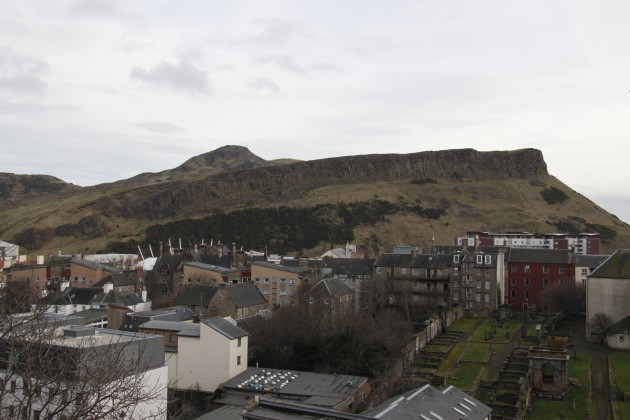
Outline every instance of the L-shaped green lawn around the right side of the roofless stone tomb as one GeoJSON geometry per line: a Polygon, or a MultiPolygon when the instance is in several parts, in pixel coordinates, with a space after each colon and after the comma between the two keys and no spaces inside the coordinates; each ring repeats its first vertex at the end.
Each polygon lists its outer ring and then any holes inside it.
{"type": "Polygon", "coordinates": [[[569,377],[576,378],[578,385],[569,385],[567,398],[564,401],[533,400],[531,419],[556,420],[559,416],[566,419],[588,418],[590,402],[588,355],[578,353],[578,358],[569,360],[569,377]]]}

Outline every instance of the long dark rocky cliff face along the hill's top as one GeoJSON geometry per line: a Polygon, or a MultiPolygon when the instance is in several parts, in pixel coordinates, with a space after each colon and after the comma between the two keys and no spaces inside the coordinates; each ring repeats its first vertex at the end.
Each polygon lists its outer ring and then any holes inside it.
{"type": "Polygon", "coordinates": [[[452,178],[476,181],[532,178],[547,174],[542,153],[535,149],[478,152],[473,149],[365,155],[298,162],[211,174],[127,190],[92,203],[110,216],[167,218],[189,206],[212,208],[239,202],[293,198],[315,188],[344,183],[394,179],[452,178]]]}

